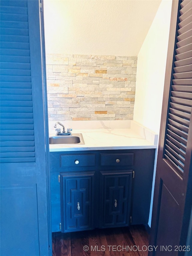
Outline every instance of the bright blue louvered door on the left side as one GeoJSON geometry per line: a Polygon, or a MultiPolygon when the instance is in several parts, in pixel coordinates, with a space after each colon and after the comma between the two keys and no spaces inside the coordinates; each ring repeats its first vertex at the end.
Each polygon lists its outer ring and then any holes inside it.
{"type": "Polygon", "coordinates": [[[1,1],[1,255],[49,255],[39,1],[1,1]]]}

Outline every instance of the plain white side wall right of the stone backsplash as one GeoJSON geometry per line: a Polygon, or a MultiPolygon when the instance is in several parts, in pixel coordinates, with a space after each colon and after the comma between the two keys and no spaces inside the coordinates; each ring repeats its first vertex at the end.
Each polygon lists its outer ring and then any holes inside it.
{"type": "MultiPolygon", "coordinates": [[[[138,54],[134,120],[159,134],[172,0],[163,0],[138,54]]],[[[155,155],[152,201],[155,185],[155,155]]],[[[152,202],[149,214],[151,226],[152,202]]]]}

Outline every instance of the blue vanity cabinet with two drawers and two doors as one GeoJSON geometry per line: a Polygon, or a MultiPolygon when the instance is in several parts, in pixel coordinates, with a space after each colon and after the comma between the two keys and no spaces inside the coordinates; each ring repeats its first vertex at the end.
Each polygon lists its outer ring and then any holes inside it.
{"type": "Polygon", "coordinates": [[[52,232],[148,224],[155,149],[50,152],[52,232]]]}

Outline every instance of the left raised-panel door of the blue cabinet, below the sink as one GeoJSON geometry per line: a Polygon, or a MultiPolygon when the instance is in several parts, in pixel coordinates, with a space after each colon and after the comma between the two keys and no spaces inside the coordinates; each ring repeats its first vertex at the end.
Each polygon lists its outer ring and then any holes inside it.
{"type": "Polygon", "coordinates": [[[93,229],[94,175],[61,173],[61,232],[93,229]]]}

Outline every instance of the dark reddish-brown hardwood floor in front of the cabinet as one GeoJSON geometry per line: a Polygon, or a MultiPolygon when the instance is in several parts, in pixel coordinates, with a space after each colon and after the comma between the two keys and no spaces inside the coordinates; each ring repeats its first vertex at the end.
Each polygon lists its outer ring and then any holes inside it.
{"type": "Polygon", "coordinates": [[[147,256],[148,245],[143,225],[52,234],[53,256],[147,256]]]}

